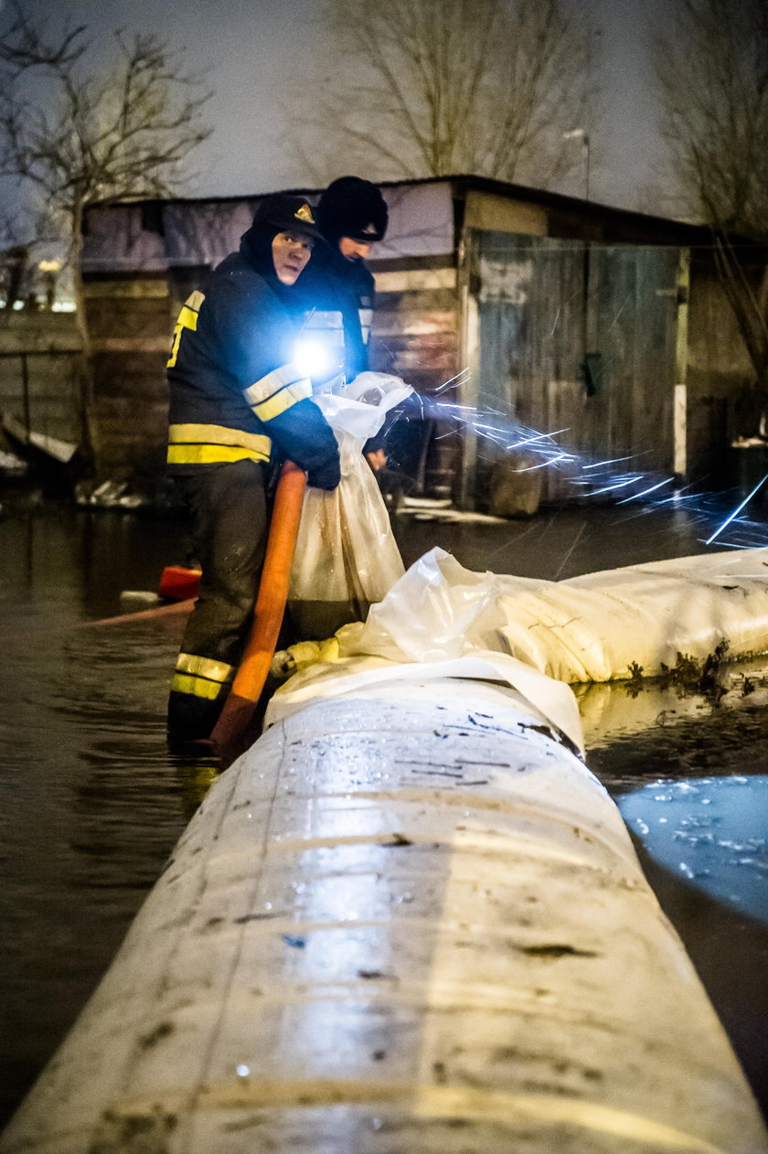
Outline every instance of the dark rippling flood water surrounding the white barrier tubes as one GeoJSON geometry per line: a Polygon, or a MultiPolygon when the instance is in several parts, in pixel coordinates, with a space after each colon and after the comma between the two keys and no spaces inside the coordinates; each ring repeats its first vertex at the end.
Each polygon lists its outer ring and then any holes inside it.
{"type": "MultiPolygon", "coordinates": [[[[709,552],[700,519],[680,509],[642,517],[572,509],[509,523],[426,516],[394,518],[406,564],[441,545],[470,569],[563,578],[709,552]]],[[[768,544],[768,526],[750,530],[743,544],[768,544]]],[[[165,564],[185,563],[187,547],[186,524],[170,516],[13,501],[0,514],[0,1121],[71,1026],[211,780],[211,766],[165,744],[183,619],[99,623],[141,608],[121,592],[155,590],[165,564]]],[[[731,892],[741,878],[765,886],[765,811],[762,835],[752,827],[746,841],[713,826],[710,848],[728,842],[720,848],[729,869],[746,862],[735,883],[724,879],[726,893],[697,884],[693,867],[654,861],[642,835],[658,820],[663,790],[679,793],[680,782],[703,781],[697,797],[709,805],[676,814],[683,834],[706,837],[706,823],[695,824],[705,812],[721,819],[722,788],[707,794],[713,780],[738,786],[744,812],[760,805],[766,698],[718,705],[665,692],[602,687],[597,711],[586,700],[585,715],[597,718],[587,726],[587,762],[619,802],[632,795],[625,818],[643,868],[766,1110],[768,926],[731,892]]],[[[683,848],[691,848],[684,837],[683,848]]]]}

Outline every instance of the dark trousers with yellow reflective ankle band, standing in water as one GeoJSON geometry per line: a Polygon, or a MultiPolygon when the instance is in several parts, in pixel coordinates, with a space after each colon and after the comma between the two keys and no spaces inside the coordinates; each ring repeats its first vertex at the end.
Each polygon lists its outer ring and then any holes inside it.
{"type": "Polygon", "coordinates": [[[203,570],[168,698],[168,735],[210,736],[253,619],[266,548],[266,469],[253,460],[180,478],[203,570]]]}

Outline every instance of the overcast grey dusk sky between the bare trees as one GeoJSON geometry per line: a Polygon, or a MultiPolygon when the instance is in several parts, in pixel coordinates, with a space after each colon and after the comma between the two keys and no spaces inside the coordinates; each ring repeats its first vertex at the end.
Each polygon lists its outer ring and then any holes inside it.
{"type": "MultiPolygon", "coordinates": [[[[585,0],[566,0],[574,12],[585,0]]],[[[2,0],[0,0],[0,5],[2,0]]],[[[186,195],[240,195],[308,183],[284,151],[291,125],[276,96],[301,74],[323,0],[22,0],[24,10],[86,23],[95,39],[108,32],[155,31],[186,47],[187,61],[209,69],[213,98],[211,138],[196,153],[198,175],[186,195]]],[[[594,0],[604,60],[605,118],[594,138],[592,195],[626,208],[664,211],[658,190],[658,143],[650,68],[649,27],[669,18],[675,0],[594,0]]],[[[340,53],[340,62],[344,53],[340,53]]],[[[574,141],[567,147],[579,148],[574,141]]],[[[354,163],[349,170],[354,172],[354,163]]],[[[364,173],[363,173],[364,175],[364,173]]],[[[577,195],[583,185],[569,189],[577,195]]]]}

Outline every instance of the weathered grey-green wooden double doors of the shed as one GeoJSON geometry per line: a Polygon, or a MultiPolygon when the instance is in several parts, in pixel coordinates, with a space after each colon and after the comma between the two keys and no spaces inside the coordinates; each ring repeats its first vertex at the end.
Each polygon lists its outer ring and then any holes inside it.
{"type": "MultiPolygon", "coordinates": [[[[507,443],[551,434],[551,456],[578,458],[545,467],[544,497],[579,495],[581,465],[609,457],[671,474],[678,260],[673,248],[469,233],[477,364],[465,398],[480,425],[509,420],[507,443]]],[[[469,441],[482,508],[505,448],[482,429],[469,441]]]]}

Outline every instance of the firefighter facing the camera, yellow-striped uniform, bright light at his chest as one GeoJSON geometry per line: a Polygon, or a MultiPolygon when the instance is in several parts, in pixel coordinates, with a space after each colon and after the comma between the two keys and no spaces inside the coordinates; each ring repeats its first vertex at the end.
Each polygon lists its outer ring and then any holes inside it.
{"type": "Polygon", "coordinates": [[[202,567],[168,700],[168,737],[210,736],[246,643],[268,533],[268,466],[339,484],[336,437],[294,361],[306,301],[296,286],[324,245],[309,203],[277,194],[240,249],[186,301],[173,336],[168,470],[193,514],[202,567]]]}

